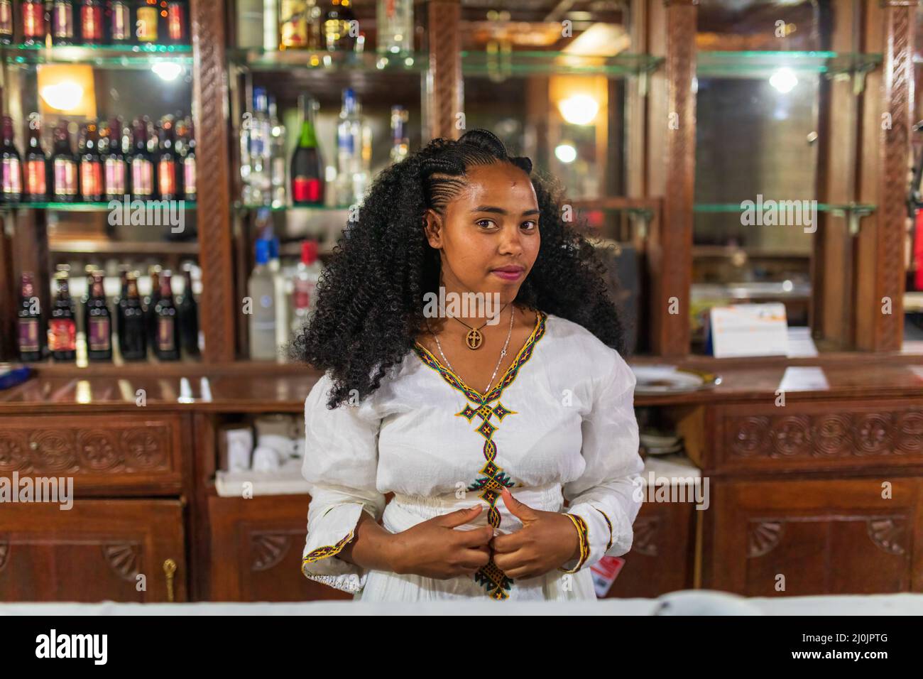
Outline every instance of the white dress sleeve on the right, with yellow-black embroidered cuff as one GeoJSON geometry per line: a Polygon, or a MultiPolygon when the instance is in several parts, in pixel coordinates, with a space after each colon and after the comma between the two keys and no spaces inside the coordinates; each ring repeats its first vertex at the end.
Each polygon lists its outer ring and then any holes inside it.
{"type": "Polygon", "coordinates": [[[604,556],[631,549],[632,524],[641,509],[638,420],[634,414],[637,378],[625,359],[615,354],[614,367],[596,385],[590,412],[583,418],[581,455],[586,467],[579,479],[566,483],[565,512],[581,533],[581,556],[561,566],[576,572],[604,556]]]}

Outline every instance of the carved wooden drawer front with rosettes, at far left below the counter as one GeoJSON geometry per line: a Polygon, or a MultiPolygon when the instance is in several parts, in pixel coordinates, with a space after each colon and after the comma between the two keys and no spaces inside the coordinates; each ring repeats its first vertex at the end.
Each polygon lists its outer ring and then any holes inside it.
{"type": "Polygon", "coordinates": [[[158,485],[178,491],[180,419],[174,415],[0,418],[0,476],[74,477],[74,491],[158,485]]]}

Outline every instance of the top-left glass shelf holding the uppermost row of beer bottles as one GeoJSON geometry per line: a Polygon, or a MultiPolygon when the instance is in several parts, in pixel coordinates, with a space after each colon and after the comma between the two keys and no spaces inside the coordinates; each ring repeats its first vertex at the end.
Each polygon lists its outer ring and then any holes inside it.
{"type": "Polygon", "coordinates": [[[192,47],[183,44],[145,45],[9,45],[2,50],[6,64],[89,64],[99,67],[146,68],[164,61],[192,64],[192,47]]]}

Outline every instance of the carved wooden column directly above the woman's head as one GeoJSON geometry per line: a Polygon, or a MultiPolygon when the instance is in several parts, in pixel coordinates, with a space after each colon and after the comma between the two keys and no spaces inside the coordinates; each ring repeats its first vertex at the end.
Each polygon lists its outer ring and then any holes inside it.
{"type": "Polygon", "coordinates": [[[429,113],[434,138],[458,139],[464,130],[456,123],[463,111],[462,3],[460,0],[430,0],[429,23],[429,113]]]}

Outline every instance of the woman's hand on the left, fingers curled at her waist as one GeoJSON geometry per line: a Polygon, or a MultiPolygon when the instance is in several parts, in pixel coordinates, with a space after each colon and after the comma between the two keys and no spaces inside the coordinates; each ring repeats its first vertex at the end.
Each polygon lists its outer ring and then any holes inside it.
{"type": "Polygon", "coordinates": [[[456,530],[455,527],[473,521],[482,508],[483,505],[478,505],[434,516],[394,533],[389,540],[391,570],[400,575],[435,577],[438,580],[476,573],[490,560],[487,542],[494,537],[494,527],[471,530],[456,530]]]}

